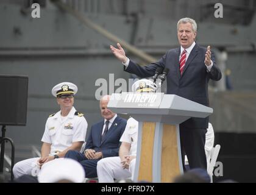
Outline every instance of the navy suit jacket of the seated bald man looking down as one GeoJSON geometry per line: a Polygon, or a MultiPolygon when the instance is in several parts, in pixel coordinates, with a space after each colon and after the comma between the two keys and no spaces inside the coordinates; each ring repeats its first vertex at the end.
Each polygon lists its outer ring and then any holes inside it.
{"type": "Polygon", "coordinates": [[[101,151],[104,158],[118,156],[119,147],[121,145],[119,140],[126,128],[126,119],[117,116],[101,143],[103,125],[104,120],[91,127],[85,149],[94,149],[96,152],[101,151]]]}

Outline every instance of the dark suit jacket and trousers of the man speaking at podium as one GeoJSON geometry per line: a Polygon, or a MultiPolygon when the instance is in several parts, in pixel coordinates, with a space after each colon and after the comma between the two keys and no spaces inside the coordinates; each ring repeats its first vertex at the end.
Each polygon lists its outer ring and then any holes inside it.
{"type": "MultiPolygon", "coordinates": [[[[216,66],[215,57],[212,54],[213,66],[211,71],[208,72],[204,63],[206,51],[206,48],[195,44],[185,63],[182,75],[180,75],[179,71],[180,48],[169,50],[158,62],[143,67],[130,60],[129,66],[125,71],[136,74],[139,77],[151,77],[158,67],[169,68],[169,74],[166,77],[167,94],[176,94],[208,106],[208,81],[210,79],[220,80],[221,71],[216,66]]],[[[186,152],[191,168],[207,168],[204,151],[207,128],[208,117],[190,118],[180,124],[182,157],[186,152]]]]}

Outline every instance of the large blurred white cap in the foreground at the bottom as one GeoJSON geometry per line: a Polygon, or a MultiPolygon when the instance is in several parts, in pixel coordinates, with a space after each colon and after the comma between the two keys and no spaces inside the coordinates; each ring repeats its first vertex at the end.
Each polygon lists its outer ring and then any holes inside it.
{"type": "Polygon", "coordinates": [[[57,158],[44,164],[38,174],[39,183],[57,183],[61,181],[82,183],[85,171],[79,162],[71,158],[57,158]]]}

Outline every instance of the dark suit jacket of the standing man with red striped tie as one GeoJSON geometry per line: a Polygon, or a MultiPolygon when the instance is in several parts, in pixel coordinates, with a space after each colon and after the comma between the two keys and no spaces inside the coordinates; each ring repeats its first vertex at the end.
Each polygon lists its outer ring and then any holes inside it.
{"type": "MultiPolygon", "coordinates": [[[[215,57],[212,53],[213,66],[210,73],[208,72],[204,63],[206,50],[206,48],[202,48],[198,44],[194,46],[185,63],[182,76],[180,76],[179,71],[180,48],[169,50],[158,62],[143,67],[130,60],[129,66],[125,71],[136,74],[139,77],[151,77],[158,67],[169,68],[169,74],[166,77],[167,94],[176,94],[208,106],[208,81],[209,79],[220,80],[221,71],[216,66],[215,57]]],[[[190,118],[180,125],[191,129],[207,129],[208,117],[190,118]]]]}

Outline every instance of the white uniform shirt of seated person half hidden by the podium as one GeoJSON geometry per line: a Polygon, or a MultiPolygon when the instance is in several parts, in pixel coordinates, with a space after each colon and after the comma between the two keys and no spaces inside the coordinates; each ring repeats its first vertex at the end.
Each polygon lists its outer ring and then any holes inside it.
{"type": "Polygon", "coordinates": [[[137,152],[137,140],[138,140],[138,121],[134,118],[129,118],[127,120],[126,129],[120,138],[121,142],[130,143],[130,152],[129,155],[136,156],[137,152]]]}

